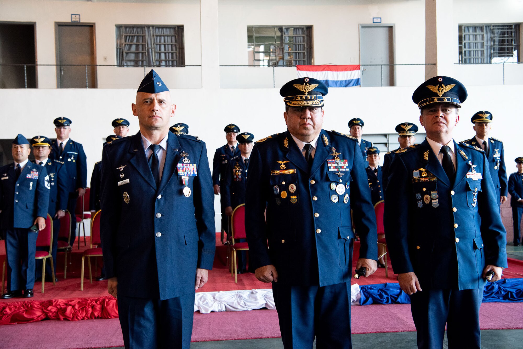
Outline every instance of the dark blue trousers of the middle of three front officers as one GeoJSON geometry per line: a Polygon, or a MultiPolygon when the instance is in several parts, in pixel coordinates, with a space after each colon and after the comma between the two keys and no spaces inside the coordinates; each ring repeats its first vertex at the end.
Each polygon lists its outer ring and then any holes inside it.
{"type": "Polygon", "coordinates": [[[350,349],[350,282],[329,286],[272,283],[285,349],[350,349]]]}

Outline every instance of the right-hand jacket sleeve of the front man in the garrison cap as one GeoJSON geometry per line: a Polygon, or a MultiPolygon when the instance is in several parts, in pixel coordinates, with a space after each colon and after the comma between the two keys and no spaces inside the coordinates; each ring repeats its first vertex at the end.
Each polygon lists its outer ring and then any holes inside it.
{"type": "Polygon", "coordinates": [[[214,227],[214,191],[208,159],[207,148],[203,144],[198,163],[198,176],[193,182],[195,195],[193,202],[196,227],[200,237],[197,267],[211,270],[216,247],[216,231],[214,227]]]}

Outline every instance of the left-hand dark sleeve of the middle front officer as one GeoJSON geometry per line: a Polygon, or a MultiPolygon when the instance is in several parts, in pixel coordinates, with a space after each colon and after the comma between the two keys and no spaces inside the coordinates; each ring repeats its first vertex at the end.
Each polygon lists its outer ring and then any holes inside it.
{"type": "Polygon", "coordinates": [[[268,179],[264,178],[263,163],[258,148],[255,145],[249,158],[249,177],[245,190],[245,232],[249,245],[249,258],[254,269],[272,264],[267,248],[267,223],[265,209],[267,207],[268,179]]]}

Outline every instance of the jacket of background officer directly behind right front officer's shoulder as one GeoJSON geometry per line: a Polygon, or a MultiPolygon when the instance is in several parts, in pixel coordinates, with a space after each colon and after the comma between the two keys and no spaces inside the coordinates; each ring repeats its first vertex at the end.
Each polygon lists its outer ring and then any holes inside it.
{"type": "MultiPolygon", "coordinates": [[[[476,142],[476,137],[467,139],[463,141],[464,143],[479,146],[476,142]]],[[[507,196],[507,169],[505,167],[505,149],[503,149],[503,142],[499,141],[496,138],[488,138],[488,169],[491,172],[492,182],[494,183],[494,188],[497,191],[497,202],[501,205],[499,201],[500,196],[507,196]]]]}

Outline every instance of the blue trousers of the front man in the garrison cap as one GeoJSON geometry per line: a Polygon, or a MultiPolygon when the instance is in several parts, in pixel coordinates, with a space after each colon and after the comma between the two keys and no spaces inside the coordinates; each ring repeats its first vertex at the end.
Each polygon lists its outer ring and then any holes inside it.
{"type": "Polygon", "coordinates": [[[118,315],[126,349],[189,349],[195,291],[166,300],[118,295],[118,315]]]}

